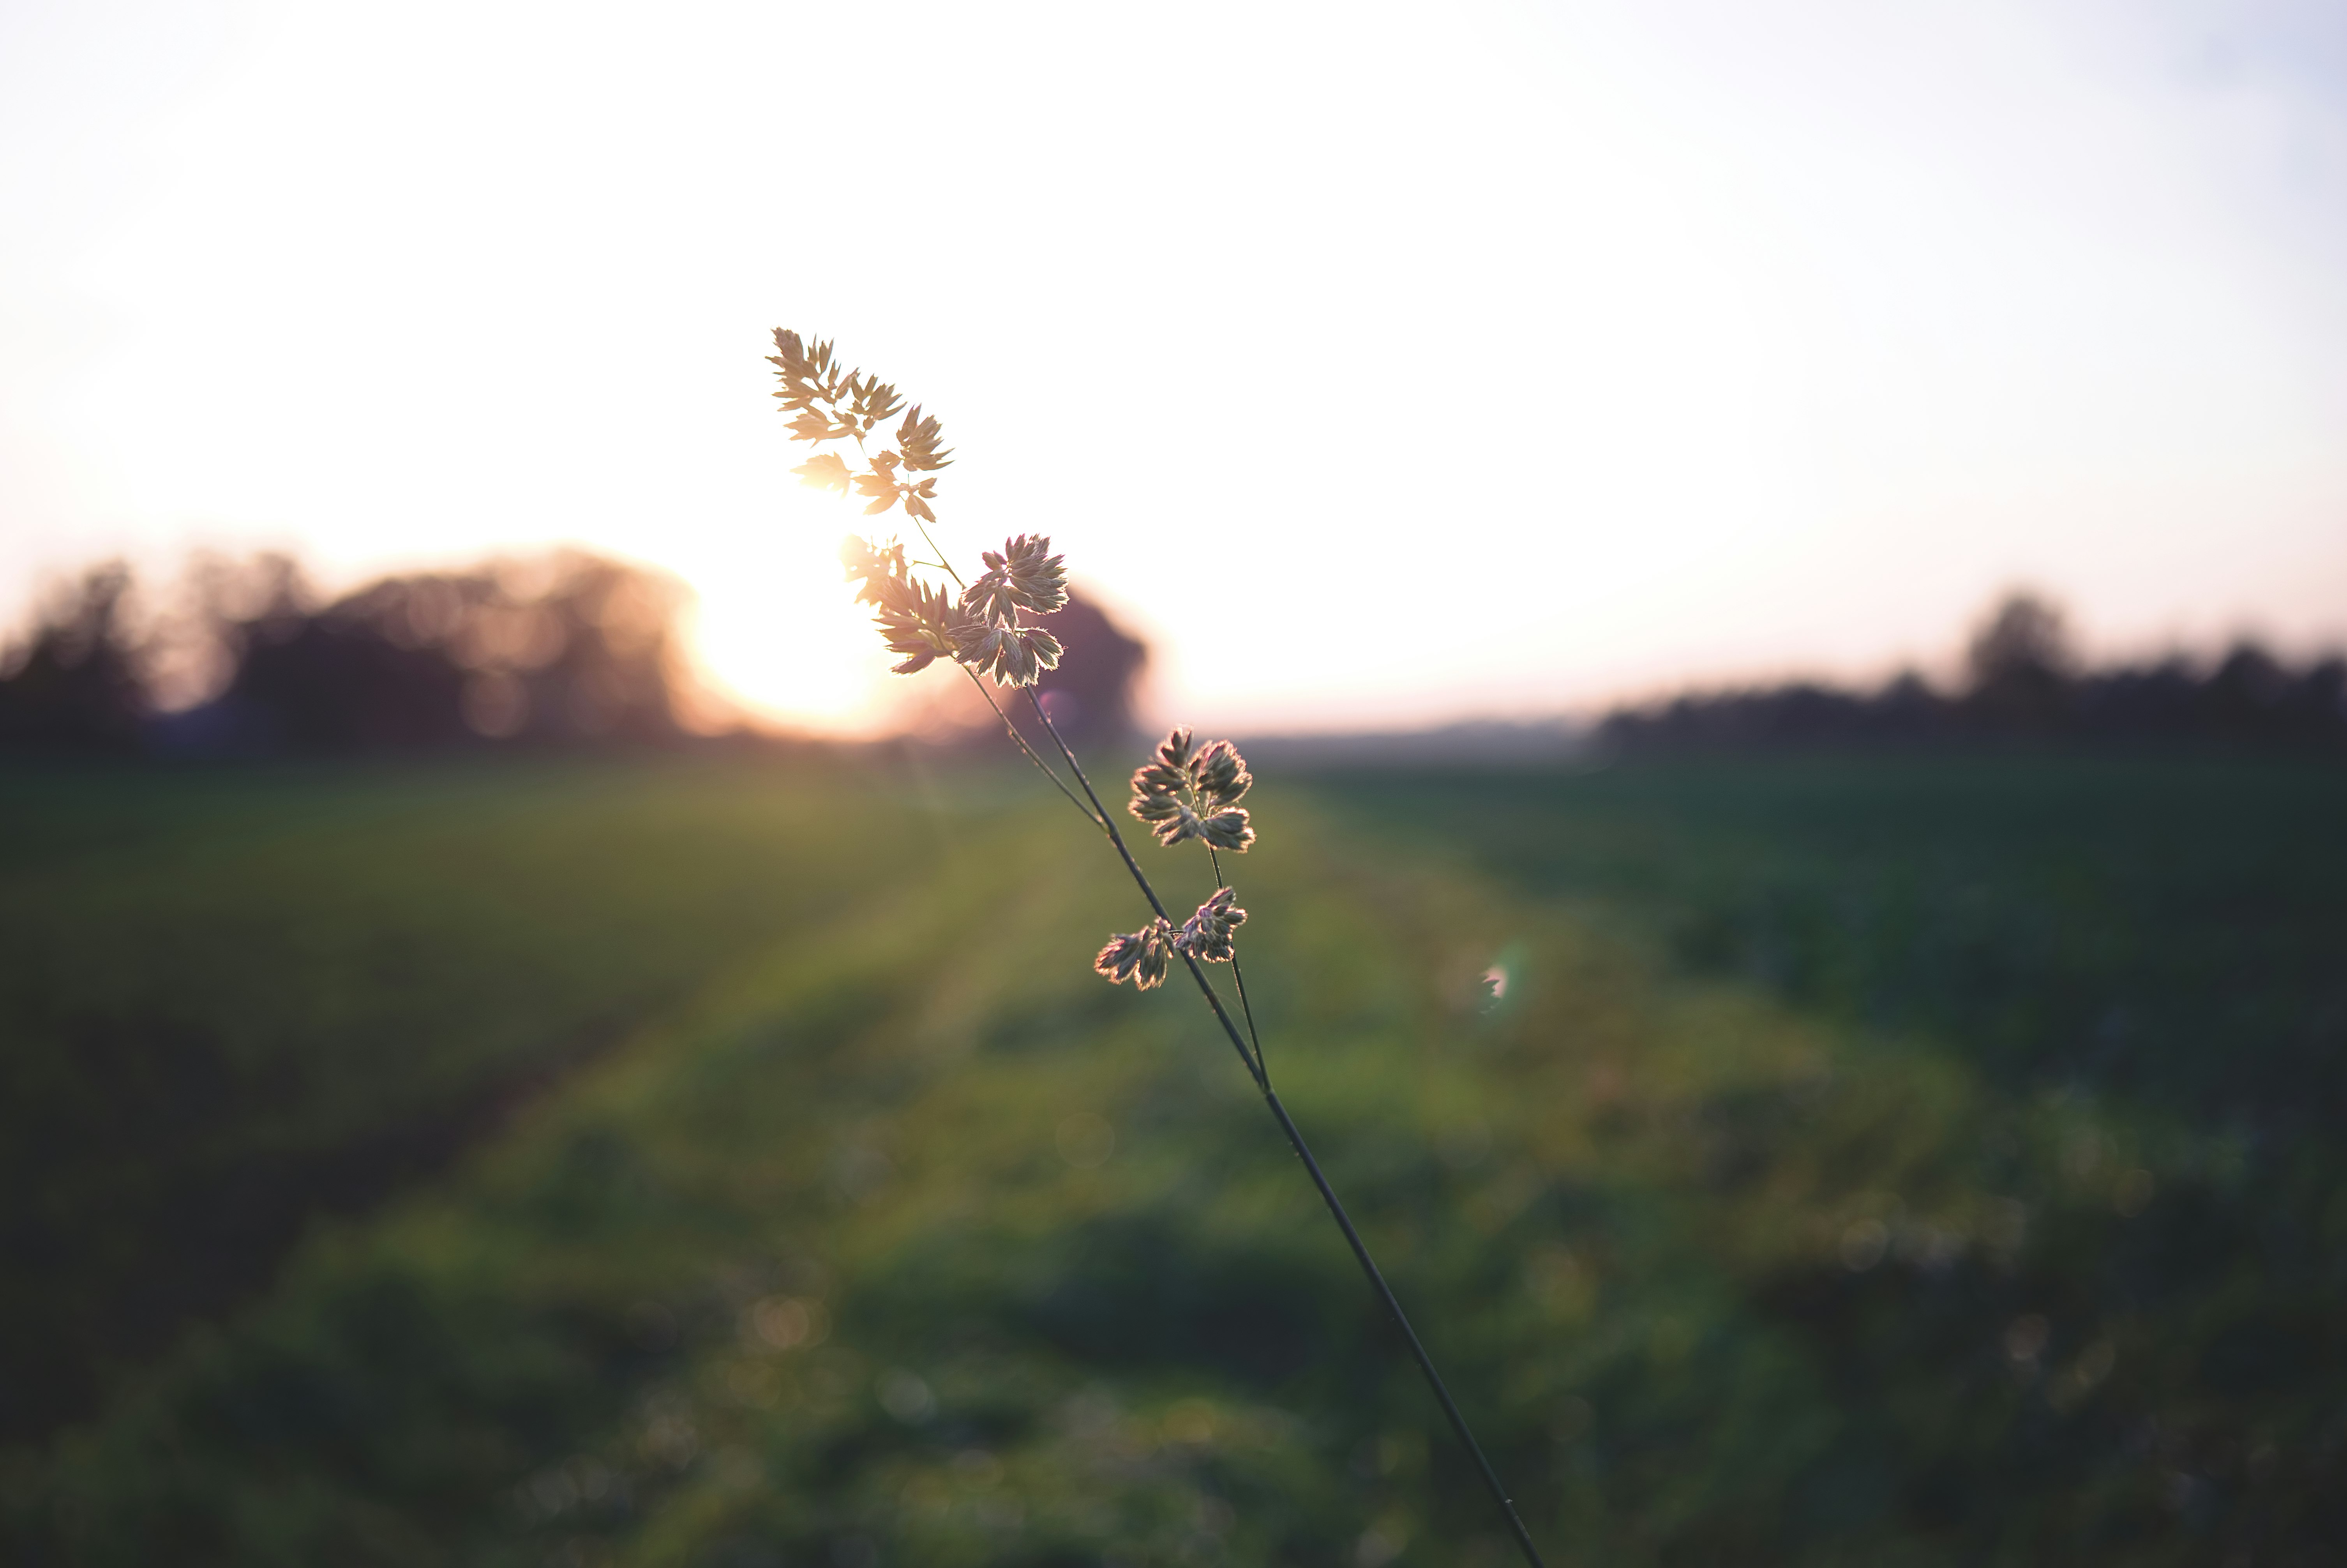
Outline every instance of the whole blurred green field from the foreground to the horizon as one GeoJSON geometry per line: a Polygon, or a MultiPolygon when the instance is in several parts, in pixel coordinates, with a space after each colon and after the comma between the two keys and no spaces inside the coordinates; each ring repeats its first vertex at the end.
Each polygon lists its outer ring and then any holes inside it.
{"type": "MultiPolygon", "coordinates": [[[[2335,1561],[2342,784],[1263,786],[1249,981],[1551,1561],[2335,1561]]],[[[0,805],[0,1556],[1507,1561],[1040,782],[0,805]]]]}

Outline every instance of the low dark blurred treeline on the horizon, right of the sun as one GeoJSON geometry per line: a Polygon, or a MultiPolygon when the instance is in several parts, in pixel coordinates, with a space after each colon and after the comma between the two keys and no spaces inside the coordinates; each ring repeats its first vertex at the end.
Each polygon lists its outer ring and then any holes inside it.
{"type": "Polygon", "coordinates": [[[2347,662],[2288,667],[2255,643],[2213,664],[2171,655],[2084,669],[2063,615],[2035,594],[1971,638],[1960,690],[1915,674],[1878,690],[1793,681],[1617,709],[1598,742],[1626,756],[1941,746],[2206,746],[2347,751],[2347,662]]]}

